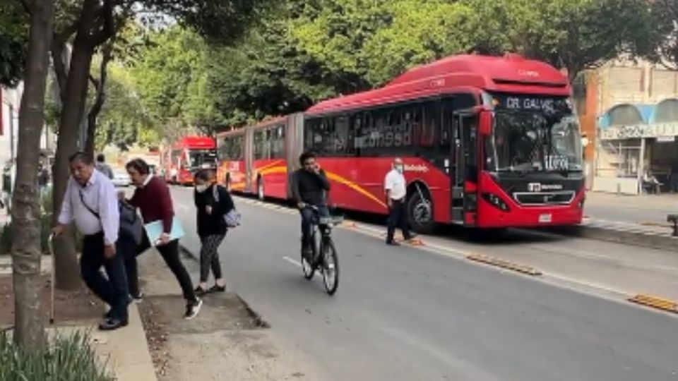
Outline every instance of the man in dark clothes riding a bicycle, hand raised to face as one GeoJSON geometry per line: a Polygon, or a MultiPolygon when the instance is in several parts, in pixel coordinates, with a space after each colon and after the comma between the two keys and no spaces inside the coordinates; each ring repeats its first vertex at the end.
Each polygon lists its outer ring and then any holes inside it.
{"type": "Polygon", "coordinates": [[[314,217],[316,214],[318,217],[329,217],[330,214],[325,201],[330,183],[313,153],[304,152],[299,156],[299,164],[302,168],[297,169],[292,177],[292,196],[302,214],[302,253],[309,255],[313,251],[311,229],[314,217]]]}

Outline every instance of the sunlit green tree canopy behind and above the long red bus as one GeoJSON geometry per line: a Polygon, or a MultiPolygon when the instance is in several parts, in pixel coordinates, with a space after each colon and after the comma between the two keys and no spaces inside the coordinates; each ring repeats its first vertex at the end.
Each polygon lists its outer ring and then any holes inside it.
{"type": "Polygon", "coordinates": [[[170,28],[133,73],[153,120],[213,131],[303,111],[453,54],[518,52],[571,78],[620,54],[653,58],[670,29],[657,4],[675,1],[290,0],[275,13],[262,1],[247,14],[265,17],[242,39],[170,28]]]}

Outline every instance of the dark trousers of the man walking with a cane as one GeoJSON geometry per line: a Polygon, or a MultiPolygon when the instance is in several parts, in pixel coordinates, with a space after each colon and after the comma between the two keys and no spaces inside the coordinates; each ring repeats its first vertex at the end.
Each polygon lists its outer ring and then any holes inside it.
{"type": "Polygon", "coordinates": [[[124,266],[124,253],[117,246],[116,255],[107,259],[104,255],[104,234],[83,238],[83,255],[80,272],[83,281],[92,292],[111,307],[111,314],[127,320],[129,291],[124,266]],[[108,279],[101,272],[104,267],[108,279]]]}

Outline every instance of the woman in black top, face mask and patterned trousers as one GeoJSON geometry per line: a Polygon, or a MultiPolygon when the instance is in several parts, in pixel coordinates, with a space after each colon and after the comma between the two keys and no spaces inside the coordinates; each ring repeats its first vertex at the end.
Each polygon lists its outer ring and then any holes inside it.
{"type": "Polygon", "coordinates": [[[203,169],[196,174],[194,200],[198,210],[198,236],[200,236],[200,284],[196,294],[226,291],[218,249],[228,230],[225,214],[233,208],[233,200],[226,188],[216,183],[214,171],[203,169]],[[207,289],[210,269],[215,285],[207,289]]]}

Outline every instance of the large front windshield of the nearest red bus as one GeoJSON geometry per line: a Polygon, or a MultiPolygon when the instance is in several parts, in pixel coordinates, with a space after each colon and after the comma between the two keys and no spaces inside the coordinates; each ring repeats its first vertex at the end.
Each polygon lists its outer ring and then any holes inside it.
{"type": "Polygon", "coordinates": [[[489,171],[562,173],[583,169],[579,123],[572,113],[496,111],[485,152],[489,171]]]}

